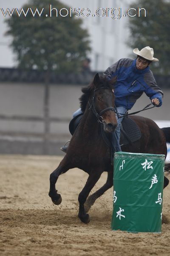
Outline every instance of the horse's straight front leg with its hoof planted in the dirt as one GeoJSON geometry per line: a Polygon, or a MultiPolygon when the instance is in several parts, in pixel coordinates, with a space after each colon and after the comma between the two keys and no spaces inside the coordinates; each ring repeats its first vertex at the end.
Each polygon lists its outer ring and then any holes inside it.
{"type": "Polygon", "coordinates": [[[84,188],[79,193],[79,198],[78,198],[78,200],[79,200],[79,215],[78,216],[79,216],[80,220],[82,222],[84,222],[85,224],[87,224],[90,221],[90,217],[85,211],[84,204],[85,204],[85,201],[86,201],[89,193],[91,192],[91,189],[93,189],[94,185],[99,180],[101,174],[102,174],[101,171],[92,169],[84,188]]]}

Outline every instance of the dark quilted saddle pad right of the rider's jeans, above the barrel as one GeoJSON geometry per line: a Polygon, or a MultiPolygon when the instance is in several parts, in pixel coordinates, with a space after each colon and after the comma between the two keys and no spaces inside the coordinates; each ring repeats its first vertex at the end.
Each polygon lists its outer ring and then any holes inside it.
{"type": "Polygon", "coordinates": [[[121,125],[120,130],[121,130],[120,145],[126,145],[130,141],[134,142],[141,138],[141,131],[139,130],[139,127],[129,117],[125,117],[122,120],[122,125],[121,125]],[[127,134],[128,138],[127,138],[126,134],[127,134]]]}

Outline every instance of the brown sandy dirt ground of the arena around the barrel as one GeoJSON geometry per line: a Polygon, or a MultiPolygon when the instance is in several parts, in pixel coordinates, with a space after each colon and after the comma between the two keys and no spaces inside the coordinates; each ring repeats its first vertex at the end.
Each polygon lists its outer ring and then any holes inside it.
{"type": "MultiPolygon", "coordinates": [[[[78,214],[78,194],[88,175],[61,175],[62,204],[48,197],[49,175],[62,157],[0,155],[0,255],[145,256],[170,255],[170,185],[164,189],[162,232],[111,230],[113,189],[91,208],[91,222],[78,214]]],[[[104,173],[94,190],[105,183],[104,173]]],[[[93,191],[94,191],[93,190],[93,191]]]]}

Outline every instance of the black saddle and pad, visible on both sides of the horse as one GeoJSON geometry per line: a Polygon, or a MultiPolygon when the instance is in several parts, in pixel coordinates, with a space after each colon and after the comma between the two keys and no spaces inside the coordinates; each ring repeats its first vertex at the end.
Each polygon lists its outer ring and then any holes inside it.
{"type": "MultiPolygon", "coordinates": [[[[69,131],[71,135],[74,134],[77,127],[79,126],[79,123],[82,119],[83,114],[79,114],[78,116],[75,116],[70,124],[69,124],[69,131]]],[[[111,134],[105,133],[103,129],[103,125],[100,125],[101,135],[105,143],[108,145],[108,147],[111,147],[111,134]]],[[[141,131],[139,130],[139,127],[136,125],[136,123],[128,118],[125,117],[122,120],[121,128],[120,128],[120,145],[127,145],[132,144],[136,140],[139,140],[141,138],[141,131]]]]}

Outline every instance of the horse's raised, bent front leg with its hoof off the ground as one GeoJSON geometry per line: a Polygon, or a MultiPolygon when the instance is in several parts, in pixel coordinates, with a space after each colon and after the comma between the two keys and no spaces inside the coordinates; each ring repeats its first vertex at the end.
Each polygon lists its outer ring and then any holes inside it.
{"type": "Polygon", "coordinates": [[[61,204],[61,202],[62,202],[61,195],[57,193],[55,184],[57,182],[59,175],[67,172],[68,169],[70,169],[70,167],[64,165],[64,161],[62,160],[62,162],[59,164],[57,169],[55,169],[54,172],[52,172],[50,175],[50,191],[49,191],[48,195],[49,195],[49,197],[51,197],[51,200],[54,204],[61,204]]]}

